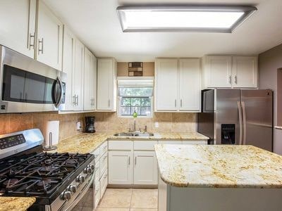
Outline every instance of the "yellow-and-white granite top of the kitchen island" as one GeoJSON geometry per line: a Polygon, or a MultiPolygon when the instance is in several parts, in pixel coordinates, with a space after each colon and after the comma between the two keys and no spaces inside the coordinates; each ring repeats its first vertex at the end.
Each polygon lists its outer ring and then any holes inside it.
{"type": "Polygon", "coordinates": [[[282,156],[255,146],[155,145],[161,179],[197,188],[282,188],[282,156]]]}

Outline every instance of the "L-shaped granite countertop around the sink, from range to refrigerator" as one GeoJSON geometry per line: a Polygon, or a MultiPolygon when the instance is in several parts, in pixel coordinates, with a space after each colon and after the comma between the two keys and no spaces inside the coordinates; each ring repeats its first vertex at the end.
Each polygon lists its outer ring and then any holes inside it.
{"type": "Polygon", "coordinates": [[[197,132],[187,132],[187,133],[175,133],[166,132],[154,133],[154,136],[140,137],[140,136],[114,136],[116,132],[96,132],[94,134],[81,133],[72,136],[68,139],[63,139],[59,141],[57,149],[54,151],[47,151],[49,153],[91,153],[96,148],[98,148],[106,140],[142,140],[142,141],[152,141],[152,140],[179,140],[185,139],[199,140],[209,139],[207,136],[199,134],[197,132]]]}

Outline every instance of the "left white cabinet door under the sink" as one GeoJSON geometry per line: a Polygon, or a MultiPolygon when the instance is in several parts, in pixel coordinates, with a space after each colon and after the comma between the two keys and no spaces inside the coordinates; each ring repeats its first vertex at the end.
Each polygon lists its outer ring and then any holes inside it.
{"type": "Polygon", "coordinates": [[[109,151],[109,184],[133,184],[132,151],[109,151]]]}

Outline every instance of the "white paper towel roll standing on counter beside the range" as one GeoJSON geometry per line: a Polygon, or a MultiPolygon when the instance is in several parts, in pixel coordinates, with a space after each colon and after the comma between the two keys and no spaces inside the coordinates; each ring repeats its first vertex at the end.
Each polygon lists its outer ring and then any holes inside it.
{"type": "Polygon", "coordinates": [[[59,121],[48,121],[44,124],[44,146],[50,146],[50,132],[52,136],[52,146],[59,142],[59,121]]]}

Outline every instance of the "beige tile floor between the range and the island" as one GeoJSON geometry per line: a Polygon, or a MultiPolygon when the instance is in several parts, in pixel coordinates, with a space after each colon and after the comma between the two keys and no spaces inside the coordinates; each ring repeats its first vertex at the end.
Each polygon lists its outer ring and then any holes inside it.
{"type": "Polygon", "coordinates": [[[158,189],[107,188],[96,211],[157,211],[158,189]]]}

